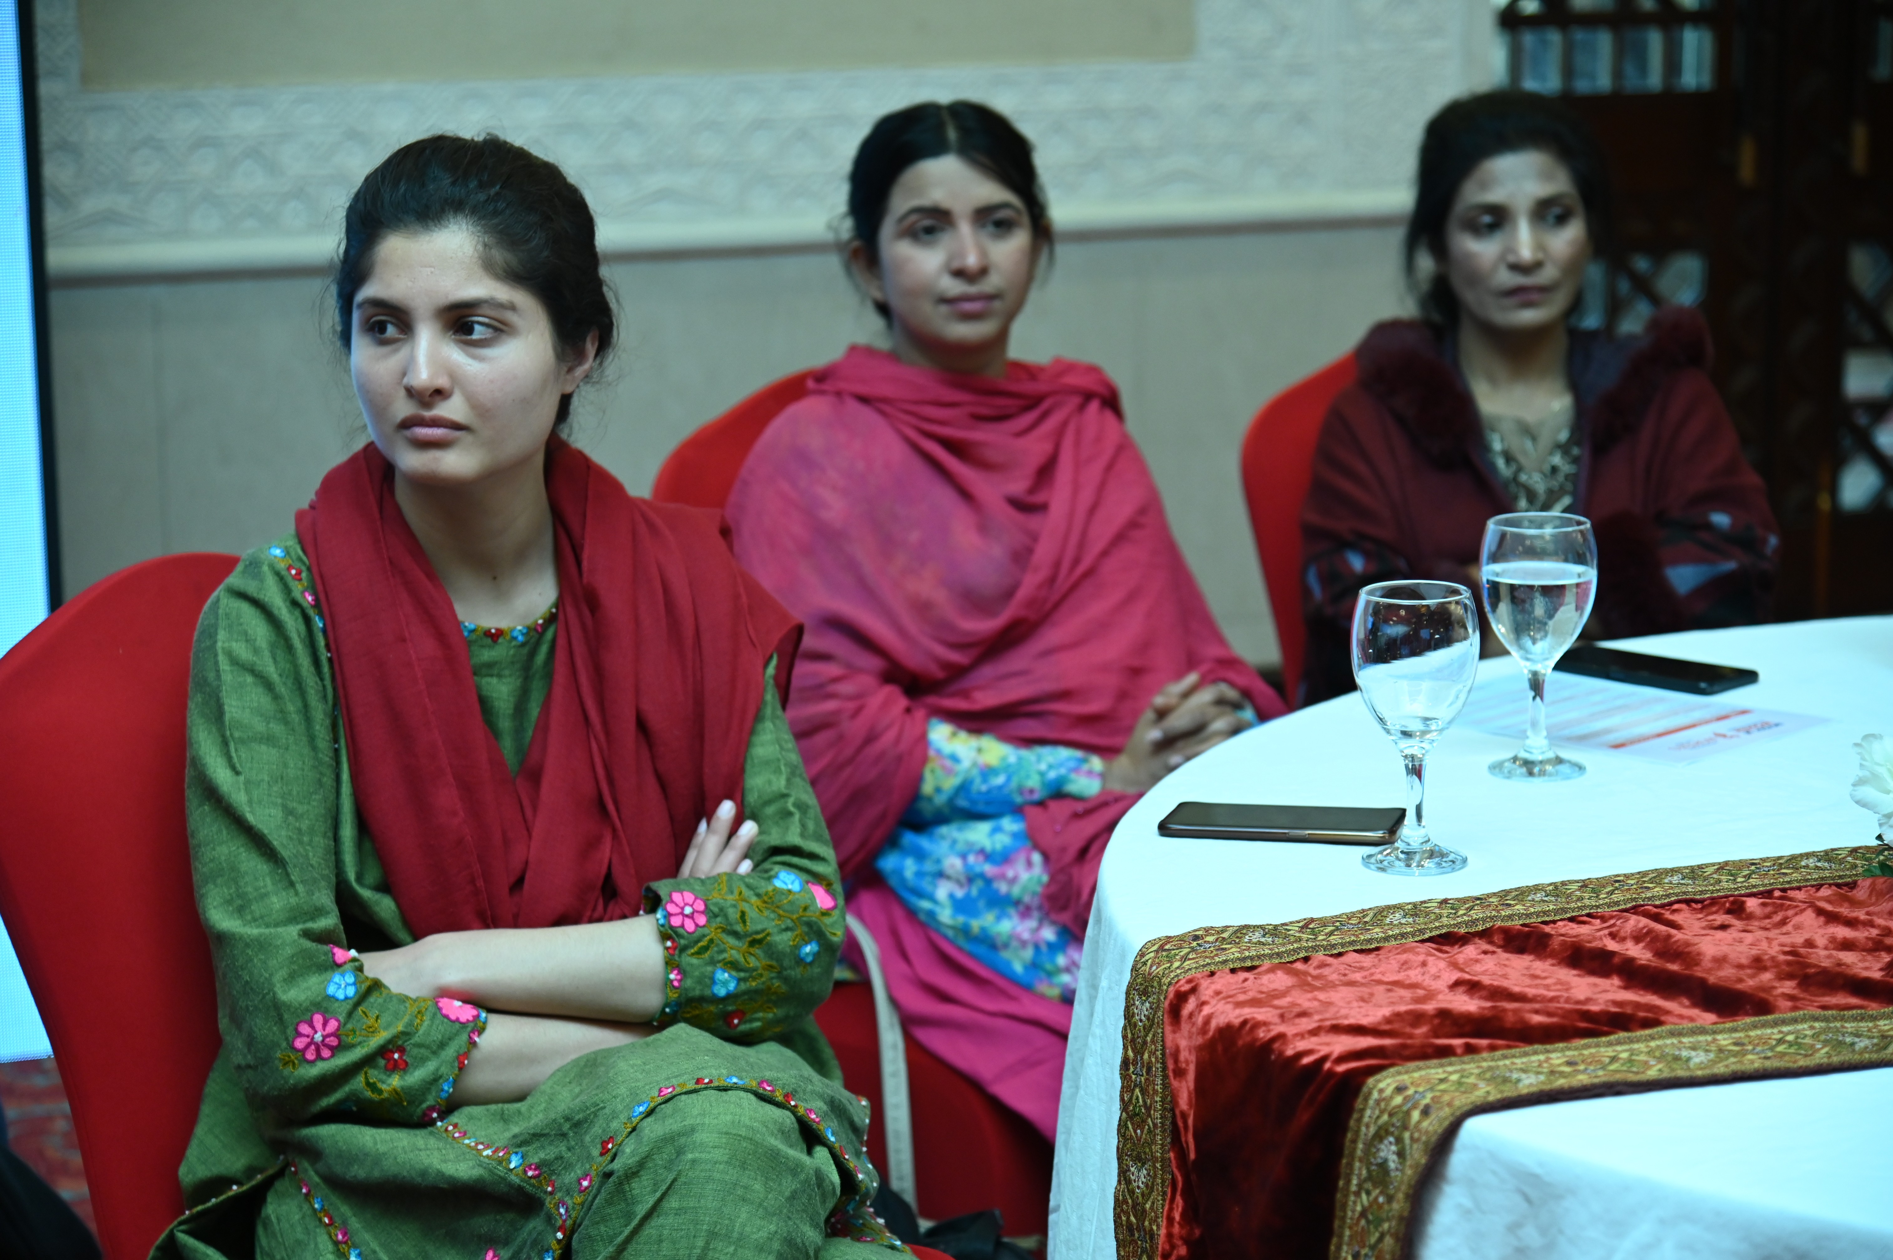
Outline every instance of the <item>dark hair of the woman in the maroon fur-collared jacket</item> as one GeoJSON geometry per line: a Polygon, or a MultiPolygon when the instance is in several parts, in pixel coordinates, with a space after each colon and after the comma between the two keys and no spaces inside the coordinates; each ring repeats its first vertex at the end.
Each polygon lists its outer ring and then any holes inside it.
{"type": "Polygon", "coordinates": [[[1478,163],[1503,153],[1539,150],[1571,172],[1577,197],[1584,203],[1584,227],[1598,258],[1611,250],[1611,178],[1603,150],[1579,114],[1550,97],[1528,91],[1488,91],[1450,102],[1425,125],[1420,140],[1420,178],[1414,212],[1406,220],[1406,279],[1414,286],[1420,315],[1429,324],[1452,328],[1460,320],[1460,301],[1446,271],[1435,265],[1433,279],[1420,288],[1414,263],[1425,248],[1435,263],[1446,258],[1446,220],[1460,186],[1478,163]]]}

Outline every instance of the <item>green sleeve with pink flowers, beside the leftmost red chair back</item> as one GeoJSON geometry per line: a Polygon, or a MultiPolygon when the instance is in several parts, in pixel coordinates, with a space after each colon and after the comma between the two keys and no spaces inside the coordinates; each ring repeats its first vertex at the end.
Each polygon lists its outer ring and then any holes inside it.
{"type": "Polygon", "coordinates": [[[487,1017],[394,993],[356,959],[356,944],[405,944],[405,927],[345,930],[339,853],[358,824],[309,589],[299,553],[244,557],[191,656],[186,807],[223,1057],[265,1129],[350,1112],[432,1124],[487,1017]]]}

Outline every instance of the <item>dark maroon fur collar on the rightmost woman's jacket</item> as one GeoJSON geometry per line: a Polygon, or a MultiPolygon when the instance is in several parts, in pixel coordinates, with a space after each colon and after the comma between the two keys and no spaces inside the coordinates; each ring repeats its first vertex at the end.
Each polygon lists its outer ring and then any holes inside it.
{"type": "MultiPolygon", "coordinates": [[[[1397,415],[1441,466],[1478,449],[1482,428],[1448,347],[1450,337],[1442,345],[1420,320],[1386,320],[1353,352],[1361,388],[1397,415]]],[[[1592,455],[1636,432],[1656,392],[1687,368],[1709,368],[1709,326],[1690,307],[1656,311],[1634,339],[1573,332],[1571,390],[1592,455]]]]}

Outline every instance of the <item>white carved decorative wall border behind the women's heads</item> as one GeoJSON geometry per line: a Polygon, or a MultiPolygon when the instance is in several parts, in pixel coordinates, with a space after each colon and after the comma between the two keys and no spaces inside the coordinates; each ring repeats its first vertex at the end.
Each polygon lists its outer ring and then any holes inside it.
{"type": "Polygon", "coordinates": [[[1397,222],[1492,40],[1488,0],[1198,0],[1187,61],[85,91],[76,4],[38,6],[61,282],[320,269],[362,174],[432,131],[564,165],[619,258],[822,248],[861,133],[929,97],[1017,117],[1071,235],[1397,222]]]}

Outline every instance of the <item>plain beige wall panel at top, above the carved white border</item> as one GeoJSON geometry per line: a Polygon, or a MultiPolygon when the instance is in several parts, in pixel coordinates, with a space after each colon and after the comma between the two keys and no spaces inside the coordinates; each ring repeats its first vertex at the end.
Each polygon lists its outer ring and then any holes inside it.
{"type": "Polygon", "coordinates": [[[80,0],[89,89],[1189,57],[1194,0],[80,0]]]}

